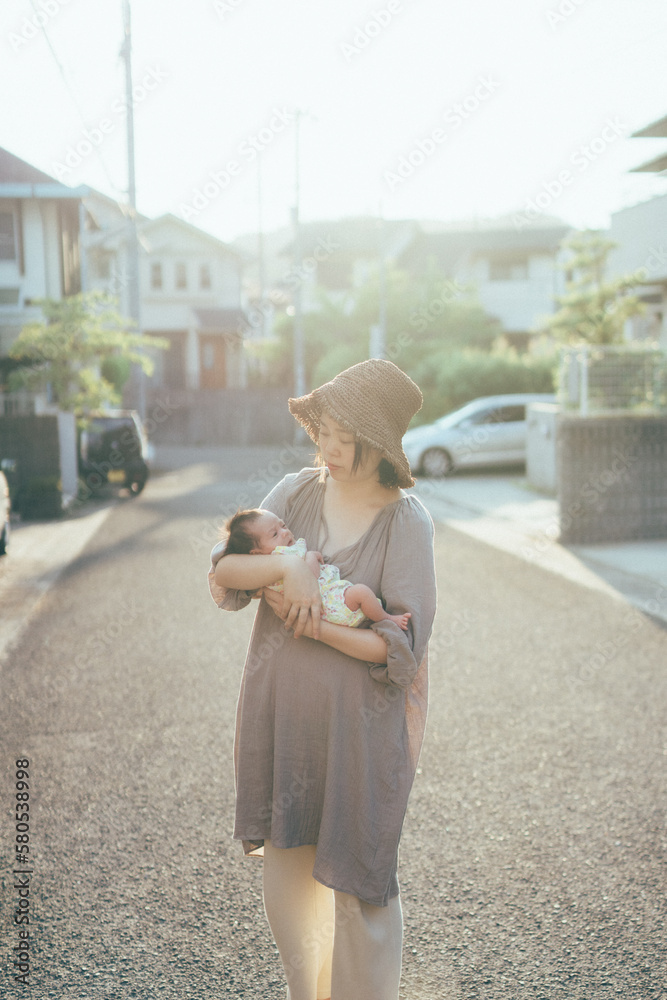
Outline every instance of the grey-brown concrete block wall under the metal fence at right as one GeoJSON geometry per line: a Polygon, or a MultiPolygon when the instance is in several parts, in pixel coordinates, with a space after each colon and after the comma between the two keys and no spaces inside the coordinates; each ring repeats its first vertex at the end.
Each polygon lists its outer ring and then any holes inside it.
{"type": "Polygon", "coordinates": [[[667,538],[667,416],[562,416],[557,440],[563,543],[667,538]]]}

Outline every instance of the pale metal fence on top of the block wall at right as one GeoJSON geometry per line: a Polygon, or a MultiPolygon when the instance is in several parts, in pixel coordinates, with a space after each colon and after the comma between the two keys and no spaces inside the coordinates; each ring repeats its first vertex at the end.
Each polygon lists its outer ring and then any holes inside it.
{"type": "Polygon", "coordinates": [[[658,348],[564,348],[558,402],[581,416],[667,411],[667,353],[658,348]]]}

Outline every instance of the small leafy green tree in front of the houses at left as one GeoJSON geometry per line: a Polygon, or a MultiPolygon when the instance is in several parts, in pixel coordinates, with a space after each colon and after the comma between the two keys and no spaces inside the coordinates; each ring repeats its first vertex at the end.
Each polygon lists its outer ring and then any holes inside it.
{"type": "Polygon", "coordinates": [[[62,410],[79,418],[118,405],[130,365],[152,374],[145,353],[163,350],[169,341],[132,331],[132,321],[116,311],[113,298],[87,292],[36,303],[44,320],[24,326],[9,355],[20,367],[9,375],[9,388],[42,392],[62,410]]]}

